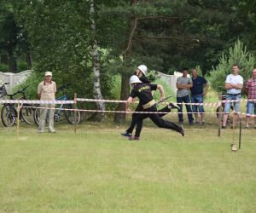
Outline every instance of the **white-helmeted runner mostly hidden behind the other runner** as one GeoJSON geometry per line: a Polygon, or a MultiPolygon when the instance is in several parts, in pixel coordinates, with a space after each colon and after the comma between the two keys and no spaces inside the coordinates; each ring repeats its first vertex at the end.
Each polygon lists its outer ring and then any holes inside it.
{"type": "MultiPolygon", "coordinates": [[[[151,81],[148,80],[148,78],[146,77],[147,73],[148,73],[148,67],[147,66],[145,66],[145,65],[137,66],[136,75],[142,83],[151,83],[151,81]]],[[[159,114],[159,116],[163,117],[167,113],[171,112],[171,109],[173,109],[173,108],[179,109],[179,107],[177,107],[177,105],[175,105],[171,102],[168,106],[166,106],[166,107],[164,107],[164,108],[162,108],[158,111],[158,112],[161,112],[159,114]],[[163,113],[163,112],[166,112],[166,113],[163,113]]],[[[138,104],[135,112],[142,112],[142,111],[143,111],[143,106],[138,104]]],[[[121,133],[121,135],[123,135],[125,137],[130,137],[132,135],[132,131],[134,130],[134,128],[137,124],[138,115],[139,115],[138,113],[133,113],[132,114],[130,127],[125,131],[125,133],[121,133]]]]}

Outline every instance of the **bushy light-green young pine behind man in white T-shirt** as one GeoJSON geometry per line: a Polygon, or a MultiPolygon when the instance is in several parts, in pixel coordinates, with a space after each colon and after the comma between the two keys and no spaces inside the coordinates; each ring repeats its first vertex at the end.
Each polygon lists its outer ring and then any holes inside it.
{"type": "Polygon", "coordinates": [[[222,55],[219,58],[219,64],[216,67],[212,67],[212,72],[210,76],[210,82],[212,84],[212,89],[218,92],[225,93],[224,82],[226,76],[231,73],[232,65],[240,66],[239,74],[247,80],[251,78],[251,73],[253,67],[256,65],[256,60],[253,55],[247,51],[246,46],[237,40],[233,47],[229,49],[229,55],[222,55]]]}

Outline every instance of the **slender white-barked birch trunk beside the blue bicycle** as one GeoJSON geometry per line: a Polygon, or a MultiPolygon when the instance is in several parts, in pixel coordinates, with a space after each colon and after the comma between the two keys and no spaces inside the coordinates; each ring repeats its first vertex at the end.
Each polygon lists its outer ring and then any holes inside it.
{"type": "MultiPolygon", "coordinates": [[[[102,91],[101,91],[101,81],[100,81],[100,60],[99,60],[99,46],[96,40],[96,23],[94,20],[95,14],[95,6],[94,0],[90,0],[90,28],[93,37],[93,44],[92,44],[92,64],[93,64],[93,74],[94,74],[94,83],[93,83],[93,91],[94,91],[94,98],[95,99],[102,99],[102,91]]],[[[105,110],[104,102],[96,102],[97,110],[105,110]]],[[[101,121],[104,117],[104,112],[96,112],[93,118],[96,121],[101,121]]]]}

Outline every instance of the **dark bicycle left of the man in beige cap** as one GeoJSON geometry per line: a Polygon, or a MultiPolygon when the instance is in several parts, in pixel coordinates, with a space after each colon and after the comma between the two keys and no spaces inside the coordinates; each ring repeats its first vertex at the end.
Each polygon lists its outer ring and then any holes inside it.
{"type": "MultiPolygon", "coordinates": [[[[24,91],[26,90],[26,88],[24,89],[19,89],[17,92],[15,92],[14,94],[7,94],[6,92],[6,88],[5,85],[7,85],[9,83],[3,83],[3,86],[1,87],[1,89],[3,89],[3,95],[4,96],[9,96],[10,100],[26,100],[26,95],[24,93],[24,91]],[[4,92],[5,90],[5,92],[4,92]],[[21,96],[17,99],[15,99],[15,95],[21,94],[21,96]]],[[[26,124],[34,124],[33,121],[33,112],[34,112],[34,107],[32,107],[32,105],[29,104],[23,104],[21,103],[20,105],[20,122],[25,122],[26,124]]],[[[15,109],[15,104],[12,103],[5,103],[3,104],[3,108],[1,110],[1,120],[4,126],[6,127],[11,127],[16,123],[16,118],[18,117],[18,112],[15,109]]]]}

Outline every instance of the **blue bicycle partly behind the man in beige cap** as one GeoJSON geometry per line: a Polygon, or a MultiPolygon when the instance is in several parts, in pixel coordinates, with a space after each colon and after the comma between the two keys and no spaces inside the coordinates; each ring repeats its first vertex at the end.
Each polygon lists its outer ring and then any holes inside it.
{"type": "MultiPolygon", "coordinates": [[[[69,85],[70,85],[70,83],[61,86],[60,88],[57,89],[57,92],[66,89],[69,85]]],[[[67,95],[62,95],[61,97],[58,97],[55,100],[56,101],[67,101],[67,95]]],[[[58,109],[55,110],[55,116],[54,116],[55,122],[61,121],[61,113],[64,113],[64,115],[67,119],[67,122],[69,124],[74,124],[75,123],[75,113],[76,113],[77,124],[79,124],[80,119],[81,119],[80,112],[79,111],[73,111],[71,109],[73,109],[71,104],[61,104],[61,106],[58,107],[58,109]]],[[[39,125],[39,118],[40,118],[40,108],[37,108],[34,112],[34,121],[37,125],[39,125]]],[[[46,118],[48,118],[48,116],[46,116],[46,118]]],[[[47,119],[46,119],[46,124],[47,123],[48,122],[47,122],[47,119]]]]}

